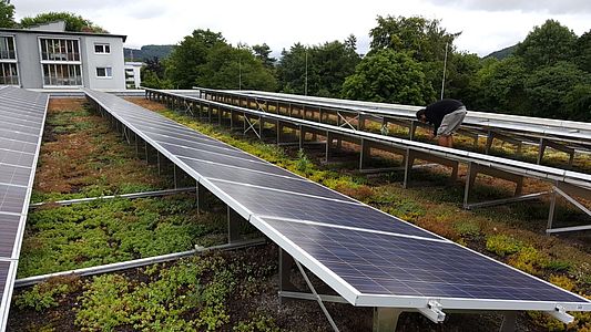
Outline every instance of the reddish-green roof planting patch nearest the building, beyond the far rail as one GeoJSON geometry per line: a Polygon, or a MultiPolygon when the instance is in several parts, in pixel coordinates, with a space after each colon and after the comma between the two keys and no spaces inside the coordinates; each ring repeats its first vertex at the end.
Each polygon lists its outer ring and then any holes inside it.
{"type": "Polygon", "coordinates": [[[135,157],[84,100],[51,100],[32,201],[130,194],[170,187],[135,157]]]}

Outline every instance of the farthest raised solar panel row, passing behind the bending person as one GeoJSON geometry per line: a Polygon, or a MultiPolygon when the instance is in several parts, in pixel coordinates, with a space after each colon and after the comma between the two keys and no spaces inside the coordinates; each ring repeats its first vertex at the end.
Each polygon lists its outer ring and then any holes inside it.
{"type": "MultiPolygon", "coordinates": [[[[387,135],[388,124],[405,126],[409,132],[409,139],[415,139],[417,127],[426,125],[416,120],[415,113],[419,106],[380,104],[370,102],[358,102],[347,100],[334,100],[313,96],[300,96],[289,94],[278,94],[257,91],[221,91],[212,89],[195,87],[203,98],[216,102],[228,103],[236,106],[245,106],[264,112],[275,112],[281,107],[297,110],[297,116],[306,118],[306,110],[318,110],[319,122],[324,113],[334,113],[340,118],[355,121],[357,129],[366,131],[366,122],[377,122],[381,127],[381,134],[387,135]],[[261,106],[261,105],[264,105],[261,106]],[[271,111],[269,105],[275,107],[271,111]],[[299,110],[304,110],[300,116],[299,110]],[[346,116],[344,116],[346,114],[346,116]]],[[[191,94],[193,94],[193,91],[191,94]]],[[[186,94],[186,91],[174,91],[176,94],[186,94]]],[[[309,112],[308,112],[309,113],[309,112]]],[[[314,113],[313,113],[314,114],[314,113]]],[[[292,112],[289,112],[292,116],[292,112]]],[[[489,154],[495,139],[507,142],[517,146],[517,154],[521,155],[522,145],[538,145],[539,155],[537,164],[543,160],[547,147],[568,154],[569,160],[564,168],[572,167],[577,151],[591,152],[591,125],[588,123],[557,121],[548,118],[526,117],[507,114],[493,114],[482,112],[468,112],[467,118],[460,127],[460,134],[473,139],[475,147],[478,147],[479,136],[486,136],[487,143],[485,152],[489,154]]]]}

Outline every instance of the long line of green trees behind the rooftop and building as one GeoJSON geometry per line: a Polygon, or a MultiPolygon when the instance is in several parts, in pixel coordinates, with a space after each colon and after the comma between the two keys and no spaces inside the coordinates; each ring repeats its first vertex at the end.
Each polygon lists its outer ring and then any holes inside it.
{"type": "MultiPolygon", "coordinates": [[[[0,0],[0,28],[61,19],[69,31],[105,32],[73,13],[16,22],[13,12],[9,0],[0,0]]],[[[446,66],[444,97],[461,100],[469,110],[591,120],[591,30],[578,37],[548,20],[502,60],[458,51],[460,33],[447,32],[437,19],[378,15],[369,35],[365,55],[349,35],[317,45],[297,42],[274,59],[265,43],[232,45],[221,32],[197,29],[169,58],[146,60],[142,81],[156,89],[262,90],[426,105],[441,97],[446,66]]]]}

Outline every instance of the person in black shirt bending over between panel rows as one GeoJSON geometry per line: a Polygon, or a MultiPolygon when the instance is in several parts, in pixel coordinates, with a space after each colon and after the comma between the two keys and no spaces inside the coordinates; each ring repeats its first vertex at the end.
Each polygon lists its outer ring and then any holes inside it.
{"type": "Polygon", "coordinates": [[[417,118],[434,126],[432,138],[440,146],[452,147],[452,134],[466,117],[466,106],[457,100],[441,100],[417,112],[417,118]]]}

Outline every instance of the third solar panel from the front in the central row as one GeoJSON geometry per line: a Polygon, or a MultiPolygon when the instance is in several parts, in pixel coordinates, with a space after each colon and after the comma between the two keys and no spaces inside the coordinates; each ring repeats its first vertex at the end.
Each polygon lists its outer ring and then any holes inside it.
{"type": "Polygon", "coordinates": [[[283,177],[265,173],[258,173],[253,169],[228,167],[226,165],[212,164],[206,162],[198,162],[192,159],[182,159],[183,163],[198,172],[204,177],[218,178],[231,181],[238,181],[243,184],[274,188],[279,190],[314,195],[319,197],[327,197],[332,199],[339,199],[343,201],[354,201],[347,196],[340,195],[326,187],[319,186],[315,183],[305,179],[293,177],[283,177]]]}

